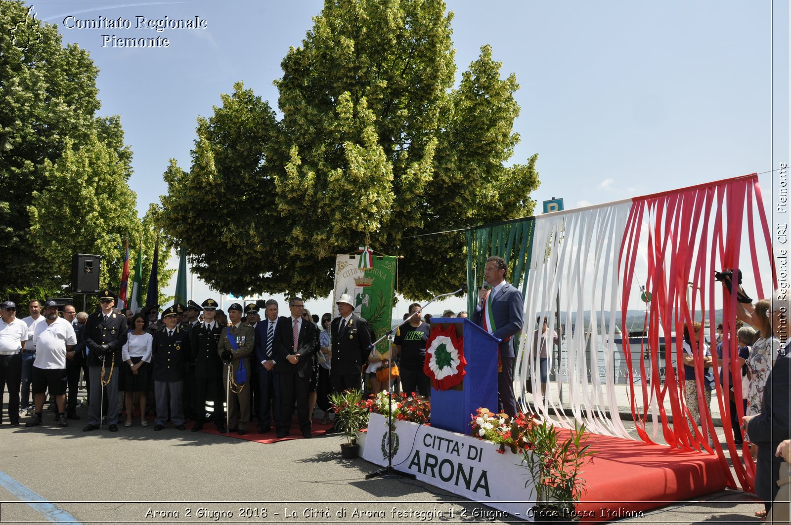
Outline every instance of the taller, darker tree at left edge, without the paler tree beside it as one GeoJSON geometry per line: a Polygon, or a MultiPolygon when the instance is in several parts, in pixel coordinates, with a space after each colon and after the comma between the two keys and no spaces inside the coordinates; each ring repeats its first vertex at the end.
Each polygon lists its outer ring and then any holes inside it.
{"type": "Polygon", "coordinates": [[[28,289],[50,270],[28,239],[28,206],[46,185],[46,161],[66,140],[96,129],[98,70],[76,45],[62,47],[52,25],[28,15],[22,2],[0,10],[0,291],[28,289]]]}

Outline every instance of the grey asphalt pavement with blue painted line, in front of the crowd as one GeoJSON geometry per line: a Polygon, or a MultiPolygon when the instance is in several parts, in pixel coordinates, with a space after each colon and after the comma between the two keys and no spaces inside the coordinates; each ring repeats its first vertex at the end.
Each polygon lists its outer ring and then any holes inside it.
{"type": "MultiPolygon", "coordinates": [[[[86,412],[65,429],[51,414],[0,425],[0,523],[523,523],[423,482],[365,479],[377,466],[341,459],[337,435],[259,444],[138,420],[82,432],[86,412]]],[[[761,508],[726,490],[620,522],[759,523],[761,508]]]]}

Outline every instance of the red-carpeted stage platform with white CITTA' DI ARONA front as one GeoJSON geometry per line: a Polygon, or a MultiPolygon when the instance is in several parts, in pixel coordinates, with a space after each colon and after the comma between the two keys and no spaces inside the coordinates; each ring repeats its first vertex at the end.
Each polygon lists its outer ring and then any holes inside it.
{"type": "MultiPolygon", "coordinates": [[[[430,425],[397,421],[395,427],[395,470],[508,512],[513,518],[532,521],[535,492],[519,456],[511,451],[500,454],[494,443],[430,425]]],[[[362,455],[380,466],[387,464],[385,429],[384,417],[371,414],[362,455]]],[[[569,431],[561,432],[564,438],[569,436],[569,431]]],[[[649,509],[725,489],[725,472],[715,455],[589,436],[596,455],[583,469],[587,488],[577,504],[582,523],[639,518],[649,509]]]]}

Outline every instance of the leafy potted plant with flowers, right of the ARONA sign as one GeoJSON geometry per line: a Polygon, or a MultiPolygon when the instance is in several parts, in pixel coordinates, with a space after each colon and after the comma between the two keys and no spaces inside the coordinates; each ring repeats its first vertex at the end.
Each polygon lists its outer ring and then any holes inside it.
{"type": "Polygon", "coordinates": [[[536,488],[536,507],[532,509],[534,521],[577,521],[575,505],[585,491],[582,467],[594,454],[586,444],[585,425],[577,427],[575,424],[571,436],[562,440],[560,431],[545,420],[529,427],[526,438],[529,444],[521,451],[521,456],[536,488]]]}

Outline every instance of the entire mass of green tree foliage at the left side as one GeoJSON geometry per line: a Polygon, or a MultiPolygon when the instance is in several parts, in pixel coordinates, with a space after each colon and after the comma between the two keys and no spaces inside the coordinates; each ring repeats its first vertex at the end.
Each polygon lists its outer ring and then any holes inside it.
{"type": "MultiPolygon", "coordinates": [[[[2,1],[4,298],[27,304],[29,298],[70,293],[74,253],[104,255],[100,285],[118,289],[125,239],[134,253],[150,233],[127,184],[132,153],[120,119],[96,116],[97,74],[87,52],[73,44],[62,47],[57,28],[31,17],[22,2],[2,1]]],[[[146,252],[153,253],[153,242],[146,252]]]]}

